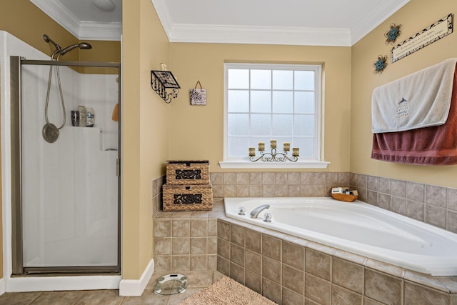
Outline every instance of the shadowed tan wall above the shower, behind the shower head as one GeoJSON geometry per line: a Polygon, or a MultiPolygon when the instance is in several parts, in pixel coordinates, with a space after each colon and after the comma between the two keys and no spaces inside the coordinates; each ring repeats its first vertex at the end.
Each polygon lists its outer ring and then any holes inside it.
{"type": "MultiPolygon", "coordinates": [[[[62,48],[81,42],[29,0],[2,1],[0,30],[9,32],[9,34],[49,55],[55,51],[55,48],[43,40],[44,34],[47,34],[62,48]]],[[[121,61],[120,41],[92,40],[87,42],[92,45],[93,49],[76,49],[62,57],[62,60],[121,61]]]]}

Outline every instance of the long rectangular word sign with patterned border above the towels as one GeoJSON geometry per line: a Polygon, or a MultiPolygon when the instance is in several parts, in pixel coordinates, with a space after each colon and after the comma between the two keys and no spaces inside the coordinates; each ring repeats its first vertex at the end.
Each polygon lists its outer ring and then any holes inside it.
{"type": "Polygon", "coordinates": [[[448,16],[436,21],[431,26],[398,44],[398,46],[394,46],[391,49],[392,63],[423,49],[429,44],[433,44],[433,42],[451,34],[452,31],[452,14],[448,14],[448,16]]]}

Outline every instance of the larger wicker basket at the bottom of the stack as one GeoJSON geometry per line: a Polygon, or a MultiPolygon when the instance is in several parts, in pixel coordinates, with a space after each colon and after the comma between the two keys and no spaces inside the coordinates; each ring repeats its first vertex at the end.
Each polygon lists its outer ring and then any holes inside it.
{"type": "Polygon", "coordinates": [[[210,211],[213,209],[211,184],[170,186],[164,184],[164,211],[210,211]]]}

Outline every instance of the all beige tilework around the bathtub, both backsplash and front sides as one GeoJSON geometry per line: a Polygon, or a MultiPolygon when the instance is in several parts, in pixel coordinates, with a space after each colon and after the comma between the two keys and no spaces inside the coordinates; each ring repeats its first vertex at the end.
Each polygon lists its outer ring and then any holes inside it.
{"type": "Polygon", "coordinates": [[[457,277],[430,277],[243,224],[226,218],[221,204],[224,196],[329,196],[332,186],[350,185],[358,190],[361,201],[457,233],[457,189],[354,173],[211,173],[214,201],[219,204],[203,216],[160,211],[164,180],[156,179],[152,185],[157,270],[214,269],[217,264],[219,271],[280,304],[457,305],[457,277]],[[191,239],[204,237],[193,236],[191,219],[207,221],[206,248],[191,250],[191,239]],[[173,236],[174,220],[189,221],[189,234],[175,229],[175,234],[185,236],[173,236]],[[185,246],[174,253],[175,238],[184,238],[185,246]],[[187,251],[188,238],[189,254],[181,254],[187,251]],[[208,253],[195,254],[201,249],[208,253]]]}

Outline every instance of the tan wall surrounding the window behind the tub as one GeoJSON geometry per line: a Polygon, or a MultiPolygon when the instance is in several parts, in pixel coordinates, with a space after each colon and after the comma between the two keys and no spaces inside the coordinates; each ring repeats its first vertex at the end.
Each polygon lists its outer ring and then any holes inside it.
{"type": "Polygon", "coordinates": [[[326,171],[349,170],[351,48],[172,43],[171,59],[181,86],[171,102],[171,159],[209,159],[211,171],[223,171],[224,61],[323,63],[326,171]],[[207,89],[206,106],[190,105],[189,89],[197,81],[207,89]]]}

